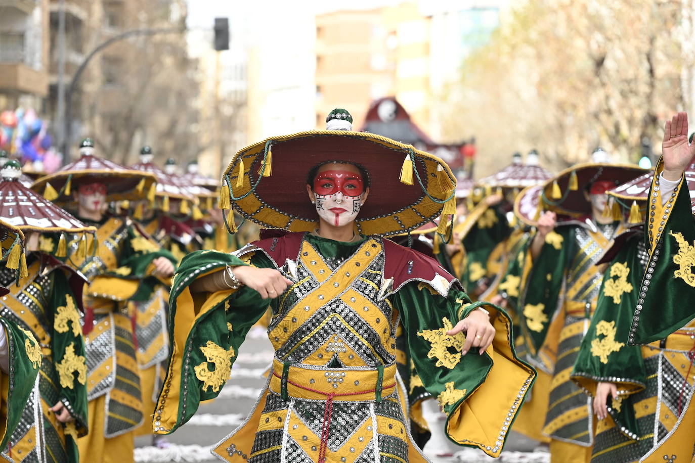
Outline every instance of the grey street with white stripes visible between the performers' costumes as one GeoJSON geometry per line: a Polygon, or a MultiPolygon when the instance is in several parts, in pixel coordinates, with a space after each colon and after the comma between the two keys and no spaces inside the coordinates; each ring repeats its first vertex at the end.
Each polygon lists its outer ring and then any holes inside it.
{"type": "MultiPolygon", "coordinates": [[[[154,448],[150,437],[136,439],[138,463],[212,463],[219,462],[210,448],[242,423],[250,412],[265,379],[261,376],[272,360],[272,346],[264,330],[254,328],[239,349],[231,371],[231,380],[220,396],[212,403],[202,404],[197,413],[172,435],[167,436],[171,446],[154,448]]],[[[436,405],[432,403],[432,405],[436,405]]],[[[436,406],[425,407],[425,415],[431,424],[437,419],[436,406]]],[[[443,421],[438,428],[443,428],[443,421]]],[[[443,432],[434,435],[425,446],[425,453],[433,463],[493,462],[548,463],[548,453],[534,453],[537,442],[512,432],[500,460],[487,457],[473,448],[460,448],[447,441],[443,432]],[[437,453],[456,453],[457,456],[437,457],[437,453]]]]}

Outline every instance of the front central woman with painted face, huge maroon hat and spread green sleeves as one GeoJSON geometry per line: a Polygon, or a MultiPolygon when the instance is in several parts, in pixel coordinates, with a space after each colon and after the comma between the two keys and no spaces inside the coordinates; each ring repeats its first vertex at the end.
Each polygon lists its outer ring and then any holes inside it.
{"type": "Polygon", "coordinates": [[[222,207],[290,233],[181,262],[154,428],[176,430],[220,392],[270,304],[272,373],[214,449],[222,460],[426,461],[400,403],[399,319],[420,380],[448,413],[448,437],[498,456],[535,376],[514,354],[509,317],[469,304],[439,264],[382,237],[452,214],[455,179],[434,155],[339,130],[346,117],[334,110],[332,130],[272,137],[232,159],[222,207]]]}

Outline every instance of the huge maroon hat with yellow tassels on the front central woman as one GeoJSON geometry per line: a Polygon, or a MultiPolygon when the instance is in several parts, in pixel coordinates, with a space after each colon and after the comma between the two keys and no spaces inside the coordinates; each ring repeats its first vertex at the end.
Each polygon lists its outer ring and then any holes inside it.
{"type": "Polygon", "coordinates": [[[363,235],[407,233],[455,213],[456,178],[443,160],[381,135],[342,130],[270,137],[241,149],[222,176],[220,206],[266,228],[314,230],[318,214],[306,176],[332,161],[368,172],[369,197],[355,222],[363,235]]]}

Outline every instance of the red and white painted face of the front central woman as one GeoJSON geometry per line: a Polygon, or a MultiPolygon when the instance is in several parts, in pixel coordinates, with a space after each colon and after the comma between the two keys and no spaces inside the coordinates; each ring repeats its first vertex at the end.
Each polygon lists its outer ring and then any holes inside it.
{"type": "Polygon", "coordinates": [[[313,180],[318,216],[336,227],[350,224],[362,207],[364,181],[347,169],[322,171],[313,180]]]}

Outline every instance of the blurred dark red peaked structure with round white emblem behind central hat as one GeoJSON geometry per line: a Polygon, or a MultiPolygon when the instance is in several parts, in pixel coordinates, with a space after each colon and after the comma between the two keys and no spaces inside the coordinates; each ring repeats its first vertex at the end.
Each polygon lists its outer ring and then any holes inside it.
{"type": "MultiPolygon", "coordinates": [[[[460,144],[440,144],[434,142],[410,119],[408,112],[393,96],[386,96],[386,98],[372,102],[364,125],[359,131],[383,135],[404,144],[411,144],[421,151],[427,151],[427,153],[439,156],[449,165],[452,171],[468,168],[464,160],[466,142],[461,142],[460,144]]],[[[471,150],[469,149],[468,151],[471,150]]]]}

